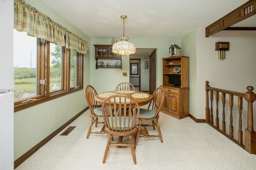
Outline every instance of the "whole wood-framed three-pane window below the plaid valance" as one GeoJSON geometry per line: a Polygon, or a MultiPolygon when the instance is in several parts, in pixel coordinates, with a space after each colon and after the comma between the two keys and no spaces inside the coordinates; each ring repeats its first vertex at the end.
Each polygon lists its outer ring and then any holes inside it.
{"type": "Polygon", "coordinates": [[[14,111],[83,87],[83,54],[14,29],[14,111]]]}

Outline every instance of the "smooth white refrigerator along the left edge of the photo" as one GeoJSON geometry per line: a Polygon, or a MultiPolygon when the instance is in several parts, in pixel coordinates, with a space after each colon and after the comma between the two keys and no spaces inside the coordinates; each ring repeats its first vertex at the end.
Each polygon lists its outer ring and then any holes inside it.
{"type": "Polygon", "coordinates": [[[0,0],[0,170],[14,169],[14,1],[0,0]]]}

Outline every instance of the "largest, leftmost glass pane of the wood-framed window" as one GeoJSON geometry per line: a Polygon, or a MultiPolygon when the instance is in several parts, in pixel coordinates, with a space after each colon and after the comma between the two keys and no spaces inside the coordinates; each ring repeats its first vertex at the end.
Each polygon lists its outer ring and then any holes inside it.
{"type": "Polygon", "coordinates": [[[14,100],[30,98],[37,93],[37,39],[14,29],[14,100]]]}

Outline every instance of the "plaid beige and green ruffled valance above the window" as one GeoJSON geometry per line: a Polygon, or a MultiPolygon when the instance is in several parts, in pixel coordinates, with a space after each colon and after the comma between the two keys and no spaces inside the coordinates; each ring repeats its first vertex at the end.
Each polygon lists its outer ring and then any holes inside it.
{"type": "Polygon", "coordinates": [[[50,41],[82,54],[88,53],[87,41],[70,32],[50,17],[26,4],[24,0],[14,0],[14,28],[28,35],[50,41]]]}

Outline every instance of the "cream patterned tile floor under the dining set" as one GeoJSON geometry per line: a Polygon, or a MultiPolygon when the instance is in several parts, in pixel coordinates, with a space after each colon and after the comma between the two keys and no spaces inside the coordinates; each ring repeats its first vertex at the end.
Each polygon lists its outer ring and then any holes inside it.
{"type": "Polygon", "coordinates": [[[189,117],[179,120],[164,113],[159,120],[164,143],[159,138],[140,138],[136,165],[130,147],[110,147],[102,164],[108,134],[90,134],[86,139],[89,122],[87,110],[69,125],[76,128],[68,136],[60,136],[64,129],[16,170],[256,170],[255,154],[206,123],[196,123],[189,117]]]}

